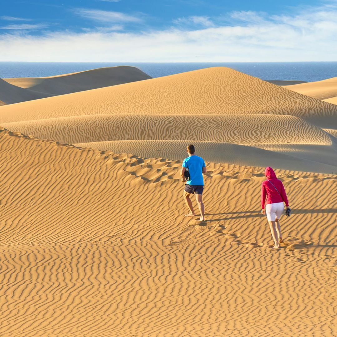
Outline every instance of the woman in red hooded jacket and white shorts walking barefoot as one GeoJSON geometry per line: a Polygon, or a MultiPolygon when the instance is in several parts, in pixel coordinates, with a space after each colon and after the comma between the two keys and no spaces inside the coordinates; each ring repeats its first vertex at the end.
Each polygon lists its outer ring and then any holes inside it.
{"type": "Polygon", "coordinates": [[[273,248],[280,248],[280,243],[282,243],[283,240],[279,220],[284,209],[283,202],[285,202],[287,209],[289,208],[287,194],[285,193],[281,180],[276,178],[276,174],[271,167],[266,167],[265,175],[267,180],[265,180],[261,186],[261,213],[267,213],[270,231],[272,232],[272,237],[275,242],[273,248]]]}

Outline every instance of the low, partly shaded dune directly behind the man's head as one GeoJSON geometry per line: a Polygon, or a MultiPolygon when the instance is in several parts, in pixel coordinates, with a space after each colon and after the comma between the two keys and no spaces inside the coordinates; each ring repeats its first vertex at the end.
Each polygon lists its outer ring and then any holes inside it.
{"type": "MultiPolygon", "coordinates": [[[[173,160],[181,160],[185,157],[185,148],[190,141],[172,141],[172,140],[132,140],[132,141],[109,141],[74,144],[78,147],[95,148],[101,151],[112,151],[115,153],[133,153],[140,157],[146,158],[169,158],[173,160]]],[[[308,172],[321,173],[337,173],[336,161],[329,164],[319,163],[317,156],[314,160],[306,160],[291,156],[290,151],[287,154],[267,151],[251,146],[219,143],[219,142],[200,142],[193,141],[197,148],[198,156],[204,158],[208,162],[238,164],[245,166],[272,166],[278,168],[301,171],[305,167],[308,172]]],[[[328,146],[322,146],[324,149],[331,149],[328,146]]],[[[277,149],[276,151],[278,151],[277,149]]],[[[307,148],[306,148],[307,150],[307,148]]],[[[310,153],[310,151],[307,150],[310,153]]],[[[332,149],[331,149],[332,152],[332,149]]],[[[300,153],[301,154],[301,153],[300,153]]],[[[337,156],[337,152],[334,153],[337,156]]],[[[326,158],[333,158],[331,153],[325,155],[326,158]],[[328,157],[330,155],[330,157],[328,157]]]]}

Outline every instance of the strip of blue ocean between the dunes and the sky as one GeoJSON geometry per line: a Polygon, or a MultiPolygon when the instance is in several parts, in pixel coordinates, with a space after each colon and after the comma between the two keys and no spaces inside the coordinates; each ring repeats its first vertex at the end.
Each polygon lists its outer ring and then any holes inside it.
{"type": "Polygon", "coordinates": [[[76,63],[0,62],[0,78],[44,77],[101,67],[135,66],[152,77],[208,67],[229,67],[262,80],[320,81],[337,76],[337,62],[243,62],[243,63],[76,63]]]}

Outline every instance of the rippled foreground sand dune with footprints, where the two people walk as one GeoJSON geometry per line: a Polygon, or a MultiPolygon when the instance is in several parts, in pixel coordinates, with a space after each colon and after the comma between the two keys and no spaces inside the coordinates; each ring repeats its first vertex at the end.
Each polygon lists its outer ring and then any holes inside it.
{"type": "Polygon", "coordinates": [[[276,170],[271,251],[262,168],[208,163],[196,225],[181,161],[5,130],[0,159],[2,336],[333,336],[337,176],[276,170]]]}

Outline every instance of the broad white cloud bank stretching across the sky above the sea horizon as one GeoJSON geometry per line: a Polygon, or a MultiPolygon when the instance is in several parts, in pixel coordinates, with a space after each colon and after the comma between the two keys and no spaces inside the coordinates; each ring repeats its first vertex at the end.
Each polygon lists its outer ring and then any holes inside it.
{"type": "MultiPolygon", "coordinates": [[[[316,8],[316,14],[310,9],[278,17],[255,14],[229,13],[229,19],[234,16],[237,20],[235,25],[218,24],[203,29],[177,26],[150,32],[112,32],[103,27],[102,30],[82,33],[45,32],[42,36],[7,33],[0,35],[0,61],[263,62],[337,59],[337,22],[334,19],[337,8],[320,7],[316,8]],[[257,20],[256,16],[262,19],[257,20]]],[[[115,14],[112,17],[120,18],[115,14]]],[[[121,20],[116,22],[117,26],[121,20]]],[[[112,27],[114,24],[111,22],[112,27]]]]}

